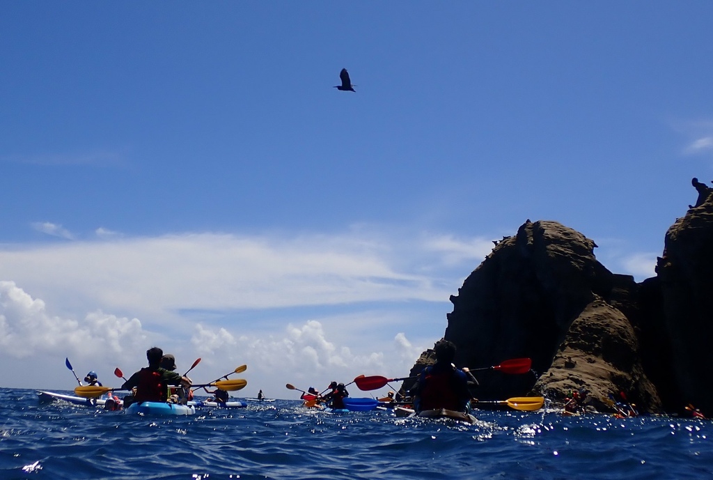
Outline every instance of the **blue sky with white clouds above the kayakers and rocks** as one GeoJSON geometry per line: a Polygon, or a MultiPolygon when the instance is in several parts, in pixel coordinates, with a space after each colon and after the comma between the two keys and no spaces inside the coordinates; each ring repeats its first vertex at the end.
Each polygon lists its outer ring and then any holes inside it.
{"type": "Polygon", "coordinates": [[[527,218],[652,276],[713,180],[712,16],[2,2],[0,384],[112,384],[154,344],[201,382],[248,364],[248,396],[403,376],[527,218]]]}

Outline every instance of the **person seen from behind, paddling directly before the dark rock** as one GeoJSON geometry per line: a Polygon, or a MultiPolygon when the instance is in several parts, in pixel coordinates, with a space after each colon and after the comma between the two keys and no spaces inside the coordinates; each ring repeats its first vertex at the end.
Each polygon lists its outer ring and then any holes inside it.
{"type": "Polygon", "coordinates": [[[424,410],[455,410],[468,412],[471,392],[468,384],[478,381],[468,369],[458,369],[453,365],[456,358],[456,344],[441,339],[434,345],[436,363],[429,365],[419,374],[416,385],[411,389],[416,412],[424,410]]]}

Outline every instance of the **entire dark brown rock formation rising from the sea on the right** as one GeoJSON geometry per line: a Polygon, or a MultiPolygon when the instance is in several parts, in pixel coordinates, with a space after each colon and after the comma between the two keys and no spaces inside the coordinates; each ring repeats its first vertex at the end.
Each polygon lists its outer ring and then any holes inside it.
{"type": "MultiPolygon", "coordinates": [[[[607,270],[593,240],[555,221],[528,220],[496,242],[451,296],[443,337],[460,367],[530,357],[533,371],[477,372],[476,397],[557,403],[584,388],[600,411],[623,392],[640,412],[693,404],[713,414],[713,195],[701,195],[666,233],[657,275],[640,283],[607,270]]],[[[429,349],[411,375],[433,361],[429,349]]]]}

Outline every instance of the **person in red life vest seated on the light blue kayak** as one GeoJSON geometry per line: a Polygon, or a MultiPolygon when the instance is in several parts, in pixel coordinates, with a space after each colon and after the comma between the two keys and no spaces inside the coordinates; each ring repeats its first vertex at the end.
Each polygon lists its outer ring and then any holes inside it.
{"type": "MultiPolygon", "coordinates": [[[[146,350],[148,367],[140,369],[121,386],[123,390],[136,389],[133,398],[128,397],[129,402],[165,402],[168,399],[169,385],[180,385],[187,389],[191,385],[188,377],[181,377],[180,374],[161,368],[161,358],[163,350],[158,347],[151,347],[146,350]]],[[[125,407],[127,398],[124,399],[125,407]]]]}

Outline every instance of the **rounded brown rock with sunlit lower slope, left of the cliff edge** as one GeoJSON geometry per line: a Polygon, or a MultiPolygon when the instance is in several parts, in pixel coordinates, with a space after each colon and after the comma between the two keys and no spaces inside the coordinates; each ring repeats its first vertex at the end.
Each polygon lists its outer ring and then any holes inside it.
{"type": "Polygon", "coordinates": [[[597,262],[594,247],[560,223],[527,222],[451,297],[445,338],[458,347],[458,365],[533,359],[533,374],[478,374],[478,398],[505,399],[535,387],[560,399],[586,386],[593,397],[625,391],[640,407],[658,409],[634,327],[615,306],[627,305],[631,294],[597,262]]]}

